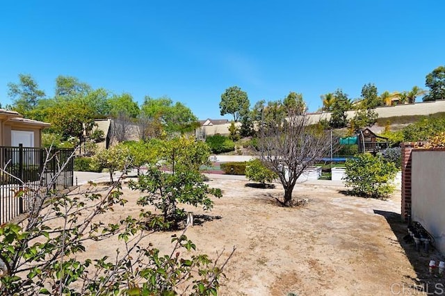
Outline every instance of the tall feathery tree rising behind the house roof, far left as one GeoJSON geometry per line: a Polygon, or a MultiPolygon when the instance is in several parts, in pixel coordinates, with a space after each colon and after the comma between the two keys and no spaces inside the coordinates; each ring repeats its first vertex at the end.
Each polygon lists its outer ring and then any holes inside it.
{"type": "Polygon", "coordinates": [[[13,109],[27,115],[45,94],[31,75],[19,74],[19,83],[8,83],[8,96],[13,99],[13,109]]]}

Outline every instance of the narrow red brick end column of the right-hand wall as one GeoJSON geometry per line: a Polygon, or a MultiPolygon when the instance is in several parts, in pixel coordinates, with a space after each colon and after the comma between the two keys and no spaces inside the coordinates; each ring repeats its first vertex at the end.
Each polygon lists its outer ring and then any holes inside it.
{"type": "Polygon", "coordinates": [[[411,151],[414,149],[414,142],[402,143],[402,221],[407,221],[411,216],[411,151]]]}

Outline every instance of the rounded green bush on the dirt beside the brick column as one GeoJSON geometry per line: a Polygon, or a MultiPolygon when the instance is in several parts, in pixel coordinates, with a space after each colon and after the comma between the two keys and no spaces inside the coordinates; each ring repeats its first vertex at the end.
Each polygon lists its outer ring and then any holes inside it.
{"type": "Polygon", "coordinates": [[[345,163],[347,187],[352,187],[355,195],[385,198],[394,192],[391,184],[397,172],[394,163],[385,161],[382,157],[371,154],[357,154],[345,163]]]}

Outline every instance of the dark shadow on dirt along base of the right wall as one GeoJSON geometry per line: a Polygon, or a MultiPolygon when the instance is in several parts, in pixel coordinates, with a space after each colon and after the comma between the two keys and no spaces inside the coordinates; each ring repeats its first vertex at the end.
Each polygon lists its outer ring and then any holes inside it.
{"type": "MultiPolygon", "coordinates": [[[[430,248],[428,252],[423,248],[417,251],[413,240],[407,232],[407,223],[401,221],[400,214],[378,210],[374,210],[374,213],[385,217],[397,238],[397,243],[401,245],[405,251],[405,255],[410,260],[417,274],[416,279],[411,279],[415,284],[411,287],[406,286],[405,290],[409,290],[410,295],[422,295],[422,293],[426,293],[427,295],[444,295],[444,277],[441,278],[438,276],[437,269],[432,274],[430,274],[428,270],[430,260],[435,260],[436,264],[439,264],[439,261],[443,260],[439,252],[432,248],[430,248]]],[[[391,240],[391,242],[394,242],[394,240],[391,240]]],[[[397,284],[402,285],[403,283],[397,284]]],[[[401,288],[402,286],[398,286],[398,288],[399,287],[401,288]]]]}

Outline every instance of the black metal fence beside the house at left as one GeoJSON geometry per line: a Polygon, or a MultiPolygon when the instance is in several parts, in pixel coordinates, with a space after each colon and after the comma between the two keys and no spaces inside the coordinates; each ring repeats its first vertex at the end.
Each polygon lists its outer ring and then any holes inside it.
{"type": "Polygon", "coordinates": [[[0,147],[0,223],[28,211],[35,199],[49,190],[73,186],[72,152],[73,149],[0,147]]]}

